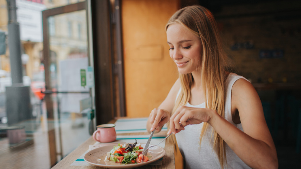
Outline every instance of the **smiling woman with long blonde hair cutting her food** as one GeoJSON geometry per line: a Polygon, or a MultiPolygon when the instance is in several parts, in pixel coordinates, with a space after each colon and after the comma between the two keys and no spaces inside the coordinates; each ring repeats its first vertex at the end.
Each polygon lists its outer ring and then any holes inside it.
{"type": "Polygon", "coordinates": [[[226,72],[213,15],[202,6],[178,10],[166,25],[179,79],[151,111],[148,131],[169,121],[186,168],[278,168],[261,101],[244,77],[226,72]]]}

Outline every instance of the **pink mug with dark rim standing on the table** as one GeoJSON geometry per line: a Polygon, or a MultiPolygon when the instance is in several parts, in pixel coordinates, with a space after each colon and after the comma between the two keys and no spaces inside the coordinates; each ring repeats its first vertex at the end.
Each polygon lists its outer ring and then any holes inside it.
{"type": "Polygon", "coordinates": [[[92,135],[95,141],[109,143],[116,140],[115,124],[101,124],[96,127],[97,130],[92,135]]]}

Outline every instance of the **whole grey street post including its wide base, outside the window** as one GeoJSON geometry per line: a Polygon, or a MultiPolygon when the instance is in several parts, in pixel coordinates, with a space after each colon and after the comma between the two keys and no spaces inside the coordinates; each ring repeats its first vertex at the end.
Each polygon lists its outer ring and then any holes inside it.
{"type": "Polygon", "coordinates": [[[32,118],[30,88],[23,85],[20,26],[17,22],[16,0],[6,0],[8,6],[8,48],[11,65],[11,86],[6,87],[8,125],[32,118]]]}

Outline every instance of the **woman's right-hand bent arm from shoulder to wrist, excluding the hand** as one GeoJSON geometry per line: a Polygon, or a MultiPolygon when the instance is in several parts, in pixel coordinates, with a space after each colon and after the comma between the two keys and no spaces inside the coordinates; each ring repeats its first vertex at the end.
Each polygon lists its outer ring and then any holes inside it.
{"type": "Polygon", "coordinates": [[[264,118],[262,103],[250,82],[238,79],[234,83],[231,107],[238,110],[244,132],[217,115],[209,124],[250,167],[278,168],[277,152],[264,118]],[[222,127],[222,124],[225,126],[222,127]]]}

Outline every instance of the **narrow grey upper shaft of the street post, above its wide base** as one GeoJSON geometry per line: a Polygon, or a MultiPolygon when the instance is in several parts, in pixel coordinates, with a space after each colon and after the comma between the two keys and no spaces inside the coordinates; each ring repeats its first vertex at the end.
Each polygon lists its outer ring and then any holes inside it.
{"type": "Polygon", "coordinates": [[[11,64],[11,83],[23,85],[20,26],[17,22],[16,0],[6,0],[8,7],[8,47],[11,64]]]}

